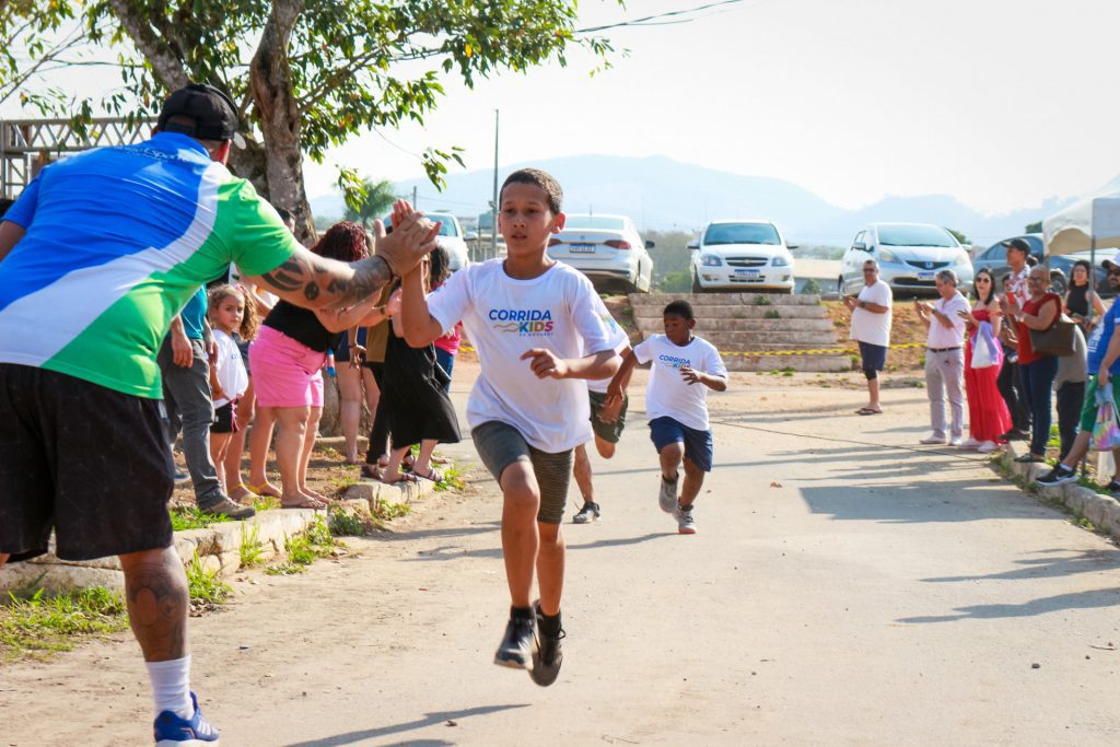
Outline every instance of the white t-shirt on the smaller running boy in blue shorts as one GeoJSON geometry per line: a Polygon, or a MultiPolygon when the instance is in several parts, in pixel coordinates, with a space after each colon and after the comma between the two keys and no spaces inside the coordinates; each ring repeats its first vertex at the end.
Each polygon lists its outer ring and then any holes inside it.
{"type": "Polygon", "coordinates": [[[681,376],[681,366],[689,366],[712,376],[727,377],[727,366],[716,346],[700,337],[688,345],[674,345],[664,335],[652,335],[634,346],[638,363],[653,361],[645,385],[646,419],[669,415],[689,428],[708,430],[708,387],[689,384],[681,376]]]}

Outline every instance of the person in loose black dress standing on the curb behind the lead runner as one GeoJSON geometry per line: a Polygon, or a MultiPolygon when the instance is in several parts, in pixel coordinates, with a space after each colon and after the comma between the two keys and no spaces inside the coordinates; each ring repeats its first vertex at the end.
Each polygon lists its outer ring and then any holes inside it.
{"type": "MultiPolygon", "coordinates": [[[[423,287],[430,290],[431,259],[420,262],[423,287]]],[[[385,411],[393,448],[389,464],[381,476],[383,483],[416,482],[418,477],[442,483],[444,476],[431,466],[431,455],[437,443],[459,442],[459,419],[447,395],[447,374],[436,363],[436,348],[431,344],[411,347],[402,337],[400,293],[389,302],[392,330],[385,347],[385,411]],[[401,461],[412,446],[420,445],[420,454],[412,464],[412,473],[401,471],[401,461]]]]}

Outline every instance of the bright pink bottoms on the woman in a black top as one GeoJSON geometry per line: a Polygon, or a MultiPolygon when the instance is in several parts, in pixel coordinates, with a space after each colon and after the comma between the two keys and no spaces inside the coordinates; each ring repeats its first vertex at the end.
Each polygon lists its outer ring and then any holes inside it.
{"type": "Polygon", "coordinates": [[[261,326],[249,346],[256,404],[262,408],[323,407],[323,365],[317,353],[282,332],[261,326]]]}

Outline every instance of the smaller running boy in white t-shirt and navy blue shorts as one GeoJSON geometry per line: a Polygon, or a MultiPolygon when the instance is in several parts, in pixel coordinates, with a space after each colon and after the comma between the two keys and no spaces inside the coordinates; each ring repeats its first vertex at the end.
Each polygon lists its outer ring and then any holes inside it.
{"type": "Polygon", "coordinates": [[[696,534],[692,504],[711,471],[711,430],[708,426],[708,390],[727,389],[727,367],[716,347],[692,334],[696,315],[688,301],[669,304],[662,312],[664,335],[640,343],[623,360],[607,389],[604,419],[622,407],[634,366],[652,361],[645,386],[650,438],[661,455],[661,510],[676,517],[681,534],[696,534]],[[696,386],[703,384],[703,386],[696,386]],[[678,468],[684,463],[684,485],[678,499],[678,468]]]}

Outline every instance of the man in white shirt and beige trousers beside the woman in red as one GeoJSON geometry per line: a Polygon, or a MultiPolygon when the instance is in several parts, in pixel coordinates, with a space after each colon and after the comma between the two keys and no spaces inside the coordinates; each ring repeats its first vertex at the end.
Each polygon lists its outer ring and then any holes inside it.
{"type": "Polygon", "coordinates": [[[956,273],[937,273],[934,304],[914,301],[914,310],[928,330],[925,348],[925,391],[930,395],[930,424],[933,433],[922,443],[960,446],[964,432],[964,316],[971,312],[969,301],[956,290],[956,273]],[[952,423],[945,426],[945,399],[952,409],[952,423]]]}

